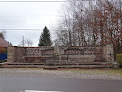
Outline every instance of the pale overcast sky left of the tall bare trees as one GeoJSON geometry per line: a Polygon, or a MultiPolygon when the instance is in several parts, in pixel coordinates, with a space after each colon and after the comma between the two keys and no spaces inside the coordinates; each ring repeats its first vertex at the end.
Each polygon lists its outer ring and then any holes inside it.
{"type": "Polygon", "coordinates": [[[56,26],[57,20],[60,18],[59,10],[62,3],[64,2],[0,2],[0,29],[5,29],[7,32],[6,40],[15,46],[20,44],[23,36],[27,39],[31,39],[34,43],[33,45],[37,46],[39,37],[45,26],[47,26],[47,28],[51,31],[52,38],[54,39],[55,36],[53,35],[53,28],[56,26]]]}

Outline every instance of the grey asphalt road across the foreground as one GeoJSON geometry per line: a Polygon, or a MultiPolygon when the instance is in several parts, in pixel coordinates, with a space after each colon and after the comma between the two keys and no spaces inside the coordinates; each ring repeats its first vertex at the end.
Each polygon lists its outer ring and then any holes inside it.
{"type": "Polygon", "coordinates": [[[0,92],[122,92],[122,80],[0,76],[0,92]]]}

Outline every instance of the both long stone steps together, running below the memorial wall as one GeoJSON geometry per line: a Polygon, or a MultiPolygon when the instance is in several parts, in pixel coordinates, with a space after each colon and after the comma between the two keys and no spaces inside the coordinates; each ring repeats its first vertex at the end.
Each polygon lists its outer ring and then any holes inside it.
{"type": "Polygon", "coordinates": [[[87,64],[45,64],[45,63],[5,63],[0,66],[1,68],[113,68],[112,63],[87,63],[87,64]]]}

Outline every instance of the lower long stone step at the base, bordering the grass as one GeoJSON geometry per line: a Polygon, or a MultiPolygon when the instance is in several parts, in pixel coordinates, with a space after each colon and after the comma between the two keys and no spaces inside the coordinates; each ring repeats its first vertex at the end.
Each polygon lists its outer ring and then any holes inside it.
{"type": "Polygon", "coordinates": [[[113,65],[2,65],[1,68],[113,68],[113,65]]]}

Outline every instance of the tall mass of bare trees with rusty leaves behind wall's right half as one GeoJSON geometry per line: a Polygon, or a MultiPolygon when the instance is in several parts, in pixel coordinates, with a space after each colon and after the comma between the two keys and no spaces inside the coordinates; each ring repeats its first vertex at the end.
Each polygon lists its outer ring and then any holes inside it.
{"type": "Polygon", "coordinates": [[[118,53],[122,48],[121,4],[122,0],[69,0],[57,41],[65,46],[113,44],[118,53]]]}

